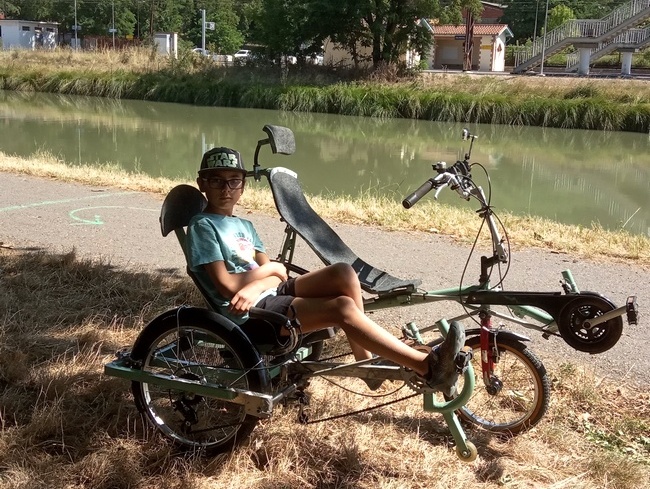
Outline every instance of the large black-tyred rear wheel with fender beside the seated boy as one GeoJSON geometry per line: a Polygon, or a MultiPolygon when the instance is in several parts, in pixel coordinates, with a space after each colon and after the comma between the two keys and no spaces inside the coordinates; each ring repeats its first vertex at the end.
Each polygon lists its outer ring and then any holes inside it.
{"type": "MultiPolygon", "coordinates": [[[[263,374],[253,370],[259,355],[236,331],[206,314],[169,314],[147,326],[136,340],[131,358],[143,370],[202,380],[260,392],[263,374]],[[170,355],[170,351],[172,352],[170,355]],[[189,366],[185,367],[184,366],[189,366]],[[246,373],[235,382],[214,377],[212,368],[246,373]]],[[[182,450],[218,453],[246,439],[258,418],[240,404],[170,389],[155,383],[131,383],[135,405],[147,422],[182,450]]]]}

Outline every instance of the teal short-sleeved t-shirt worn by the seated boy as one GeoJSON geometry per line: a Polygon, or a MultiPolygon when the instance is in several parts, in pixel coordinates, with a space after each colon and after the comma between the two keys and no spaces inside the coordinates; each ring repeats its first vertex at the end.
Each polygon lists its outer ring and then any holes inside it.
{"type": "Polygon", "coordinates": [[[230,300],[219,294],[203,265],[222,261],[229,273],[242,273],[259,267],[255,253],[264,253],[264,245],[253,224],[234,216],[197,214],[187,227],[187,250],[190,270],[214,299],[218,312],[236,324],[246,321],[248,315],[235,316],[228,312],[230,300]]]}

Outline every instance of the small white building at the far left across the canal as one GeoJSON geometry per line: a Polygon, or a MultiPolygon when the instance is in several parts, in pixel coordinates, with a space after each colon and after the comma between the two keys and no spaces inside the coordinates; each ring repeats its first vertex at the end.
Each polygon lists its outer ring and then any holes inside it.
{"type": "Polygon", "coordinates": [[[59,24],[32,20],[0,20],[2,49],[54,49],[59,24]]]}

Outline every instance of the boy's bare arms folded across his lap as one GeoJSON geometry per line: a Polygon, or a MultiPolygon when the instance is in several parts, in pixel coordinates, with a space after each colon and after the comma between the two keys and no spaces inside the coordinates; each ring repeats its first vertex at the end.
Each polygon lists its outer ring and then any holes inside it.
{"type": "Polygon", "coordinates": [[[219,293],[230,298],[230,310],[234,314],[244,314],[262,292],[287,279],[284,265],[270,261],[266,254],[257,252],[255,261],[259,268],[242,273],[229,273],[223,261],[204,265],[219,293]]]}

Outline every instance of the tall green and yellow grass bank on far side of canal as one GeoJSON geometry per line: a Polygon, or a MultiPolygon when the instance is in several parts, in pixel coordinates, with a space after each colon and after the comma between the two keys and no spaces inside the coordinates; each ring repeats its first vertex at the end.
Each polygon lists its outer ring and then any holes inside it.
{"type": "Polygon", "coordinates": [[[151,51],[0,52],[0,88],[185,104],[514,124],[650,131],[650,93],[634,80],[439,74],[365,79],[326,67],[219,68],[189,54],[151,51]]]}

